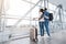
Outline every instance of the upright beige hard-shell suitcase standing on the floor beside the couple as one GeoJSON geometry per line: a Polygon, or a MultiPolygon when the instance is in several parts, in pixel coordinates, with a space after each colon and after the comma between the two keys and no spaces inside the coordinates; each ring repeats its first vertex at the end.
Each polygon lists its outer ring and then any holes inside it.
{"type": "Polygon", "coordinates": [[[32,26],[30,30],[30,40],[37,41],[37,29],[35,26],[32,26]]]}

